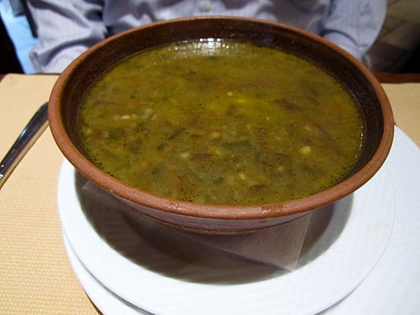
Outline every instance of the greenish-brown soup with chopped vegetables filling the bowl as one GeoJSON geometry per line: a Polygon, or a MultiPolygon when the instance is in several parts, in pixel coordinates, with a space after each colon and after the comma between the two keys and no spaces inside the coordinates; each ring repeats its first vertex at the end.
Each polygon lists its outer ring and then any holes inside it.
{"type": "Polygon", "coordinates": [[[79,113],[104,172],[155,195],[261,204],[329,188],[353,167],[364,122],[351,94],[305,59],[202,40],[106,71],[79,113]]]}

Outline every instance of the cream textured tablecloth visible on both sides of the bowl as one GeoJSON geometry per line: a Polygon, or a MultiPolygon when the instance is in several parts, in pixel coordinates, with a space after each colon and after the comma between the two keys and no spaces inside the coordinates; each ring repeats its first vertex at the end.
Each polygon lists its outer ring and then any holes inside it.
{"type": "MultiPolygon", "coordinates": [[[[377,78],[391,102],[395,124],[420,146],[420,75],[378,73],[377,78]]],[[[56,79],[56,75],[3,77],[1,157],[48,100],[56,79]]],[[[56,197],[62,160],[47,129],[0,190],[0,314],[98,313],[64,249],[56,197]]]]}

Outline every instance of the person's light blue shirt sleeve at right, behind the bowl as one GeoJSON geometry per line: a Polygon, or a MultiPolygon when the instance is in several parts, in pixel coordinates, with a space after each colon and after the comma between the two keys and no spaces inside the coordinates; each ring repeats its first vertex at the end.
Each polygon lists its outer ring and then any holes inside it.
{"type": "Polygon", "coordinates": [[[377,38],[385,15],[386,0],[335,0],[322,35],[362,59],[377,38]]]}

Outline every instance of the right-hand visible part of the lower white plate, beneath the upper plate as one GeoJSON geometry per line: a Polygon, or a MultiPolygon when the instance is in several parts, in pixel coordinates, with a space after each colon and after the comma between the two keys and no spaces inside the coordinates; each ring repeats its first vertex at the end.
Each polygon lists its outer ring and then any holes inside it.
{"type": "Polygon", "coordinates": [[[420,309],[420,150],[395,127],[386,161],[395,193],[391,239],[360,286],[330,307],[331,314],[419,314],[420,309]]]}

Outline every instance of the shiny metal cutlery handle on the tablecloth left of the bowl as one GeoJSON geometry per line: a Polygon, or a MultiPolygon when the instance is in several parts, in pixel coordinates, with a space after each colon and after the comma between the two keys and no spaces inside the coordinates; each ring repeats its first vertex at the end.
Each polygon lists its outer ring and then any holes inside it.
{"type": "Polygon", "coordinates": [[[32,116],[25,129],[22,130],[18,139],[0,162],[0,188],[13,172],[16,165],[22,160],[29,148],[35,143],[36,139],[43,133],[48,125],[48,103],[43,104],[32,116]]]}

